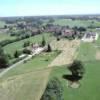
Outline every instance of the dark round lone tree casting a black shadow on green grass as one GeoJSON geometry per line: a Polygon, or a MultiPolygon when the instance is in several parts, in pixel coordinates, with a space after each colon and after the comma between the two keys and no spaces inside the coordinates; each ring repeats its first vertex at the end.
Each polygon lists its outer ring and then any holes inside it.
{"type": "Polygon", "coordinates": [[[68,69],[71,71],[72,76],[83,76],[84,67],[81,61],[75,60],[68,69]]]}

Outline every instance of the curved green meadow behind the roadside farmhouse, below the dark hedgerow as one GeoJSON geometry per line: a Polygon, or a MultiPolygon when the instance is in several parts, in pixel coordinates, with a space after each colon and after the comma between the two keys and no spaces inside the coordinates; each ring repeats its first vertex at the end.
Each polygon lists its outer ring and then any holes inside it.
{"type": "Polygon", "coordinates": [[[21,40],[21,41],[18,41],[18,42],[8,44],[7,46],[4,47],[4,50],[5,50],[6,53],[13,56],[13,54],[16,50],[22,50],[23,49],[23,44],[24,44],[25,41],[30,41],[31,43],[41,43],[43,36],[45,37],[46,41],[49,41],[50,39],[54,38],[49,33],[39,34],[39,35],[36,35],[34,37],[30,37],[28,39],[24,39],[24,40],[21,40]]]}

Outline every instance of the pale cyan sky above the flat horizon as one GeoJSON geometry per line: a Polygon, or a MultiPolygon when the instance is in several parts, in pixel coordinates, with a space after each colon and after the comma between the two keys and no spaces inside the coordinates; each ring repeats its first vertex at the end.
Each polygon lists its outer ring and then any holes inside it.
{"type": "Polygon", "coordinates": [[[0,17],[100,14],[100,0],[0,0],[0,17]]]}

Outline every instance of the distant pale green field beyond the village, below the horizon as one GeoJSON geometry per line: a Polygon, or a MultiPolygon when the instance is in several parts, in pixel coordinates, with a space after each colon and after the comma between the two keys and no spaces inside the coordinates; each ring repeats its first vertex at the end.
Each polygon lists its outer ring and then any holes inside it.
{"type": "Polygon", "coordinates": [[[68,25],[70,27],[74,26],[100,26],[100,22],[96,20],[71,20],[71,19],[56,19],[54,22],[55,25],[68,25]]]}

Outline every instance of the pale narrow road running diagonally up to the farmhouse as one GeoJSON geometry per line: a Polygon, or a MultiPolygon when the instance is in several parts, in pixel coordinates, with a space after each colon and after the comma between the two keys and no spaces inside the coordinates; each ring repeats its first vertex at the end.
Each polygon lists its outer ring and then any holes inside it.
{"type": "Polygon", "coordinates": [[[1,78],[5,73],[7,73],[9,70],[11,70],[12,68],[14,68],[14,67],[20,65],[21,63],[23,63],[23,62],[26,61],[26,60],[31,59],[33,56],[35,56],[35,55],[41,53],[43,50],[44,50],[44,48],[38,48],[37,50],[35,50],[35,52],[34,52],[32,55],[28,55],[28,57],[26,57],[25,59],[23,59],[23,60],[21,60],[21,61],[15,63],[15,64],[13,64],[12,66],[8,67],[7,69],[5,69],[4,71],[2,71],[2,72],[0,73],[0,78],[1,78]]]}

